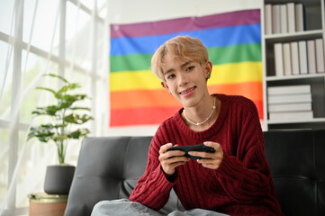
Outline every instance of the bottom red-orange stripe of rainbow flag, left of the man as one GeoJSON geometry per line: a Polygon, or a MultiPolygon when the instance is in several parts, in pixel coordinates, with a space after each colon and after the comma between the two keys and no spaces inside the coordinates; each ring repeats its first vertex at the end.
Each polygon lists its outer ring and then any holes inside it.
{"type": "Polygon", "coordinates": [[[160,124],[180,107],[147,107],[111,110],[111,126],[160,124]]]}

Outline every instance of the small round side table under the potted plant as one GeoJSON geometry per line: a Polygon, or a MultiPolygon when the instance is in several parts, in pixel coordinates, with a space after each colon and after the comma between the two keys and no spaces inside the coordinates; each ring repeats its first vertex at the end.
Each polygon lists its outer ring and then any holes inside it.
{"type": "Polygon", "coordinates": [[[67,207],[68,195],[32,193],[29,216],[63,216],[67,207]]]}

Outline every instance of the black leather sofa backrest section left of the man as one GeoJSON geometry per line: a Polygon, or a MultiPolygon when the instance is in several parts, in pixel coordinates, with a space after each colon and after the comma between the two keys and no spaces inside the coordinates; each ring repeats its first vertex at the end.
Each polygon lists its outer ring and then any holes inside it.
{"type": "Polygon", "coordinates": [[[127,198],[144,173],[151,139],[83,139],[65,215],[88,216],[96,202],[127,198]]]}

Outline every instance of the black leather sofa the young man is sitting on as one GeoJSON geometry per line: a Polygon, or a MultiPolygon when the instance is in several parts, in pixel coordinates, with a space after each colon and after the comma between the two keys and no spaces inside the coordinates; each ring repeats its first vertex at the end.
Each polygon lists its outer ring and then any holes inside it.
{"type": "MultiPolygon", "coordinates": [[[[325,215],[325,130],[274,130],[264,137],[284,214],[325,215]]],[[[146,168],[151,139],[84,139],[65,216],[89,216],[96,202],[128,198],[146,168]]],[[[161,212],[176,209],[183,207],[172,191],[161,212]]]]}

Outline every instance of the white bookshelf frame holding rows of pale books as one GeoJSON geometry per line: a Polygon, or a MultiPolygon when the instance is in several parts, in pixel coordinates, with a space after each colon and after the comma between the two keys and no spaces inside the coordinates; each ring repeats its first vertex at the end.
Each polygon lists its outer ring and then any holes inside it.
{"type": "MultiPolygon", "coordinates": [[[[274,44],[300,40],[323,39],[325,41],[325,4],[324,0],[264,0],[264,4],[302,3],[305,9],[305,28],[308,31],[292,33],[264,34],[262,36],[262,57],[264,61],[264,127],[266,130],[285,128],[320,128],[325,125],[325,73],[292,75],[292,76],[267,76],[275,74],[274,44]],[[312,2],[312,4],[311,4],[312,2]],[[280,85],[311,85],[313,119],[268,120],[267,86],[280,85]]],[[[262,10],[262,13],[264,10],[262,10]]],[[[264,14],[261,14],[264,17],[264,14]]],[[[264,21],[264,19],[262,19],[264,21]]],[[[262,30],[264,30],[262,28],[262,30]]],[[[325,48],[324,48],[325,49],[325,48]]]]}

